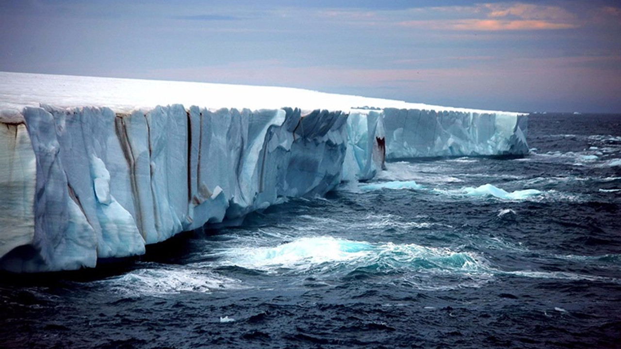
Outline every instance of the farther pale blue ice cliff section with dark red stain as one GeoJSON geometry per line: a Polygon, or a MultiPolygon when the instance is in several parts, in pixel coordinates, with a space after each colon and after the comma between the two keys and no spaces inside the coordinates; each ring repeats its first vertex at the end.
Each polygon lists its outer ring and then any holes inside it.
{"type": "Polygon", "coordinates": [[[527,116],[434,109],[351,109],[344,178],[365,181],[386,160],[525,155],[527,116]]]}

